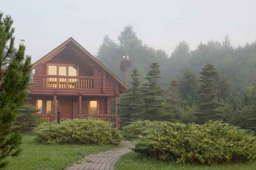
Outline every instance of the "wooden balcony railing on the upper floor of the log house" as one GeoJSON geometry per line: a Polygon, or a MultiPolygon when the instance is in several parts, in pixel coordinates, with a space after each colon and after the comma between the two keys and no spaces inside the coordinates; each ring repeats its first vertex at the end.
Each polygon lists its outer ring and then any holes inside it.
{"type": "Polygon", "coordinates": [[[93,88],[93,78],[48,76],[43,77],[43,87],[47,88],[93,88]]]}

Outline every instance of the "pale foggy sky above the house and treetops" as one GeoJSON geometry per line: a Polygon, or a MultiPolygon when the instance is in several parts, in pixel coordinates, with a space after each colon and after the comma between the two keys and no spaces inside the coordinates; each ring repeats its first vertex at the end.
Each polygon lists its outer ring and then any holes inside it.
{"type": "Polygon", "coordinates": [[[183,40],[190,50],[226,35],[234,47],[256,40],[255,0],[5,0],[0,11],[14,19],[15,46],[24,39],[33,63],[70,37],[95,55],[104,35],[117,42],[128,24],[169,55],[183,40]]]}

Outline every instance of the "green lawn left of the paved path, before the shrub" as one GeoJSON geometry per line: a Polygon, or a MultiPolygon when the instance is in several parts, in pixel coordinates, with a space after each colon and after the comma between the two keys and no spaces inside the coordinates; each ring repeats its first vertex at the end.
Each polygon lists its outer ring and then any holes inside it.
{"type": "Polygon", "coordinates": [[[23,135],[17,157],[8,157],[9,163],[4,170],[63,170],[85,155],[103,152],[115,146],[97,145],[50,145],[33,141],[35,135],[23,135]]]}

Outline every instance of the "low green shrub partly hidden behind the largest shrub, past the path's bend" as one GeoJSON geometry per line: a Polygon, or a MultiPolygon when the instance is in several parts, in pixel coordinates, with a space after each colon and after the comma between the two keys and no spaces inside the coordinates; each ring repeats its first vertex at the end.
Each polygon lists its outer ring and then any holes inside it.
{"type": "Polygon", "coordinates": [[[148,130],[163,127],[162,121],[135,121],[122,128],[122,134],[126,139],[138,138],[139,135],[148,135],[148,130]]]}

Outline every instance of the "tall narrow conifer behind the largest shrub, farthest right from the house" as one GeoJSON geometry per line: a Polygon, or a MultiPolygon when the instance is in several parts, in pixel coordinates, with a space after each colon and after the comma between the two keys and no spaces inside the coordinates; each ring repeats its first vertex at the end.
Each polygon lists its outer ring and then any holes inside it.
{"type": "Polygon", "coordinates": [[[199,109],[200,112],[197,114],[198,123],[204,123],[205,121],[214,119],[214,110],[220,104],[218,103],[218,82],[220,73],[218,69],[211,64],[211,62],[207,62],[207,64],[202,68],[200,72],[202,76],[200,76],[200,84],[199,87],[199,109]]]}

